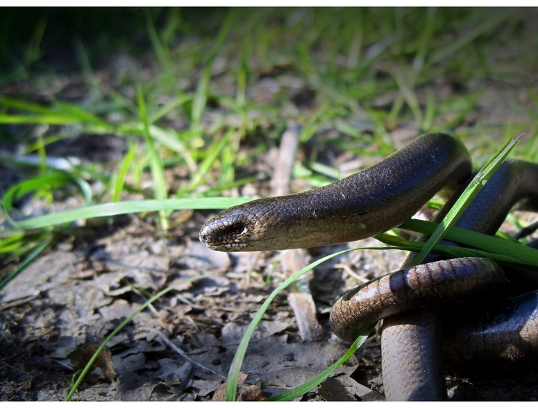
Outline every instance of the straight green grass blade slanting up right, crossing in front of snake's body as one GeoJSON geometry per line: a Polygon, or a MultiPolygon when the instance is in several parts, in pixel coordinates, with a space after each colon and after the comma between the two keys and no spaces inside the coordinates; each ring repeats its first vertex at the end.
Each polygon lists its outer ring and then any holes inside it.
{"type": "Polygon", "coordinates": [[[426,245],[417,254],[417,257],[414,258],[411,266],[423,263],[426,256],[428,256],[428,253],[430,253],[430,250],[432,250],[432,248],[443,239],[448,230],[452,228],[476,194],[478,194],[482,187],[484,187],[487,180],[489,180],[496,169],[503,164],[503,161],[507,158],[508,154],[510,151],[512,151],[512,148],[514,148],[516,144],[517,140],[508,139],[507,142],[505,142],[505,144],[498,150],[498,152],[485,164],[485,166],[478,171],[475,178],[471,180],[460,198],[457,199],[451,210],[448,211],[448,214],[446,214],[443,221],[439,224],[437,230],[435,230],[433,235],[428,239],[426,245]]]}

